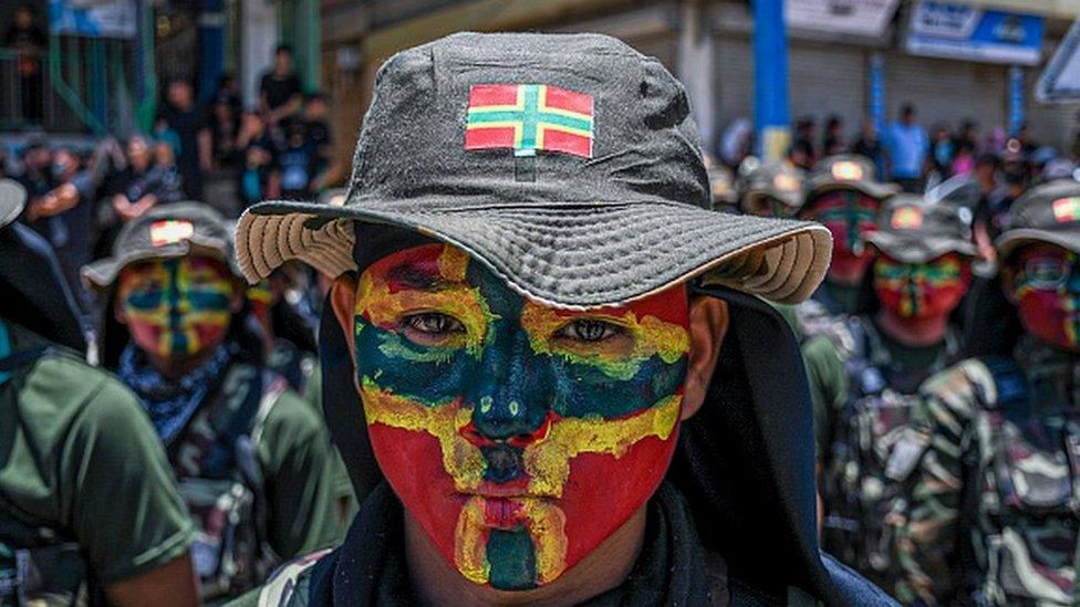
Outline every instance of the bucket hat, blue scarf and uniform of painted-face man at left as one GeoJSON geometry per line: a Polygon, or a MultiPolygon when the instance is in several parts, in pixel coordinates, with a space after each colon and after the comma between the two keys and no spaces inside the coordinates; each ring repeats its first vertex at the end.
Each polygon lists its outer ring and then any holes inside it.
{"type": "MultiPolygon", "coordinates": [[[[85,266],[83,275],[112,300],[121,270],[134,261],[195,252],[229,261],[231,242],[209,207],[172,205],[128,223],[114,255],[85,266]]],[[[105,364],[118,368],[144,408],[163,393],[201,390],[172,431],[158,432],[199,530],[193,556],[208,601],[261,583],[282,558],[336,544],[344,531],[325,426],[287,379],[267,367],[262,341],[245,333],[245,314],[232,318],[225,343],[207,363],[175,381],[129,344],[112,314],[104,331],[105,364]]]]}

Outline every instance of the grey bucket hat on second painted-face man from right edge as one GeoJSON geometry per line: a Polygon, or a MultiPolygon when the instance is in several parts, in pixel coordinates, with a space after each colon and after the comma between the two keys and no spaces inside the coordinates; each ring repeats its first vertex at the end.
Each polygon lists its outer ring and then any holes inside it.
{"type": "Polygon", "coordinates": [[[866,242],[903,263],[926,263],[946,253],[978,254],[955,209],[928,205],[914,195],[890,198],[881,211],[879,229],[866,234],[866,242]]]}

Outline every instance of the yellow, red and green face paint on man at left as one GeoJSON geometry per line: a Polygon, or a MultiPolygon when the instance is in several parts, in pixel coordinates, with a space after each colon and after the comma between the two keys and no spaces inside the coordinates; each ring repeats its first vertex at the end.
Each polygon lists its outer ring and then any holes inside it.
{"type": "Polygon", "coordinates": [[[162,358],[188,358],[217,347],[232,318],[233,284],[219,261],[188,257],[129,265],[117,302],[135,344],[162,358]]]}

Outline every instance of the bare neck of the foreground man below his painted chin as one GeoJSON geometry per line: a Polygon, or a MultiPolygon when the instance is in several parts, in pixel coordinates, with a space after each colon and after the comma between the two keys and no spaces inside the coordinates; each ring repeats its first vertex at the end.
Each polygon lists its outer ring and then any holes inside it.
{"type": "Polygon", "coordinates": [[[425,605],[577,605],[622,584],[630,575],[645,535],[645,506],[578,565],[554,582],[531,590],[506,592],[472,584],[461,576],[405,512],[405,556],[413,592],[425,605]]]}

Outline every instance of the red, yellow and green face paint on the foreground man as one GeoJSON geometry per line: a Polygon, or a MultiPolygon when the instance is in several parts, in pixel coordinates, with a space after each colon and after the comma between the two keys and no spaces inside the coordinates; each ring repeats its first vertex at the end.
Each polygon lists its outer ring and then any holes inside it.
{"type": "Polygon", "coordinates": [[[356,373],[395,493],[476,584],[548,584],[653,494],[675,447],[687,295],[554,310],[458,249],[383,258],[361,276],[356,373]]]}

